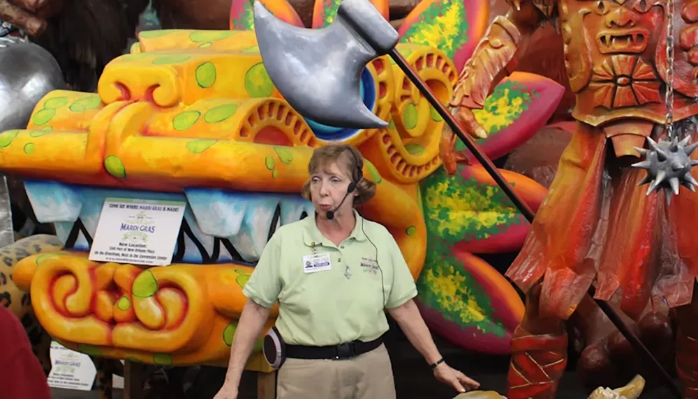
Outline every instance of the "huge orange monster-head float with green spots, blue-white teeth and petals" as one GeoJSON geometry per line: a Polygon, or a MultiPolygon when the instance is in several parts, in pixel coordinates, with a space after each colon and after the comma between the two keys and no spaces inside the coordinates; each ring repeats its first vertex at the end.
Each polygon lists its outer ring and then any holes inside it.
{"type": "MultiPolygon", "coordinates": [[[[401,28],[401,53],[444,102],[484,33],[482,4],[425,0],[401,28]],[[470,25],[443,37],[429,33],[466,9],[470,25]],[[464,31],[466,42],[449,41],[464,31]]],[[[299,23],[285,1],[266,5],[299,23]]],[[[387,10],[381,1],[376,7],[387,10]]],[[[224,365],[242,287],[267,239],[313,213],[297,194],[313,148],[344,141],[362,151],[364,175],[378,183],[360,212],[396,238],[430,327],[462,347],[507,352],[523,304],[473,253],[520,247],[523,217],[477,164],[459,164],[456,177],[443,173],[443,121],[387,58],[369,64],[362,84],[366,103],[389,127],[319,125],[291,109],[267,77],[245,19],[249,3],[234,2],[232,15],[230,31],[141,32],[131,54],[107,65],[98,93],[53,91],[27,129],[0,134],[1,169],[24,178],[36,217],[53,223],[64,244],[24,258],[13,272],[49,334],[95,356],[224,365]],[[186,203],[171,265],[89,260],[107,198],[186,203]]],[[[503,81],[478,114],[490,134],[481,141],[488,155],[530,138],[562,94],[535,75],[503,81]]],[[[540,185],[505,175],[531,207],[540,205],[540,185]]],[[[260,358],[249,366],[260,368],[260,358]]]]}

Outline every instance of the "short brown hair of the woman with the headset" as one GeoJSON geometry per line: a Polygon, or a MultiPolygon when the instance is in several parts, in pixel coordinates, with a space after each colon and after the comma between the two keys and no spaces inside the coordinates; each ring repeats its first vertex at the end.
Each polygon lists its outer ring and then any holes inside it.
{"type": "MultiPolygon", "coordinates": [[[[320,167],[332,162],[337,162],[340,167],[344,166],[350,179],[356,184],[355,192],[359,195],[354,197],[354,205],[366,203],[376,195],[376,183],[364,178],[363,175],[359,175],[358,173],[358,171],[364,170],[363,155],[361,155],[361,152],[359,152],[356,147],[348,144],[328,144],[327,146],[315,148],[310,162],[308,162],[308,173],[312,175],[317,172],[320,167]]],[[[311,201],[310,179],[303,185],[301,195],[306,200],[311,201]]]]}

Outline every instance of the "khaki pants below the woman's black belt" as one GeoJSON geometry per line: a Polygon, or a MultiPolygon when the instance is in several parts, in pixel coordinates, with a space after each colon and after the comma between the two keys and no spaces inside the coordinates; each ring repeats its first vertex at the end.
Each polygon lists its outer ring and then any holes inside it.
{"type": "Polygon", "coordinates": [[[385,345],[348,360],[286,359],[276,399],[395,399],[385,345]]]}

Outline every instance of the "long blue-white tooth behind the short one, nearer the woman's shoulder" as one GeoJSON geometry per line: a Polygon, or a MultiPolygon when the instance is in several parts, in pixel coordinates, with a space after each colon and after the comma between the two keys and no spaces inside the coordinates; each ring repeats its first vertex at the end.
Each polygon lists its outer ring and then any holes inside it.
{"type": "Polygon", "coordinates": [[[246,203],[245,216],[239,232],[230,237],[230,242],[247,262],[259,260],[269,238],[269,226],[279,205],[279,196],[259,194],[240,195],[237,201],[246,203]]]}

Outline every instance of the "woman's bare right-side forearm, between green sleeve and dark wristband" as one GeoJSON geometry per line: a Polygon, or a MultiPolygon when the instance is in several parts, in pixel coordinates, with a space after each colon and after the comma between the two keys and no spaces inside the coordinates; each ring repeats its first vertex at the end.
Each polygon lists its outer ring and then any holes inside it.
{"type": "Polygon", "coordinates": [[[396,308],[387,309],[387,311],[399,324],[410,343],[426,359],[426,363],[436,363],[441,359],[441,354],[431,338],[431,332],[426,327],[422,314],[419,313],[419,308],[413,299],[396,308]]]}

